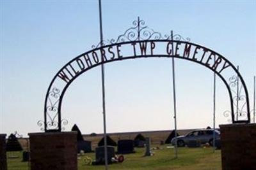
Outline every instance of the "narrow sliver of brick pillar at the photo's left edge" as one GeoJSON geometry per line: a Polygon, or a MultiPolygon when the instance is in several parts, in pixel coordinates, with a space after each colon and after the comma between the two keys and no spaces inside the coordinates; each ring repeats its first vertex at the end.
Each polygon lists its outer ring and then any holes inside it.
{"type": "Polygon", "coordinates": [[[7,170],[5,136],[6,134],[0,134],[0,170],[7,170]]]}

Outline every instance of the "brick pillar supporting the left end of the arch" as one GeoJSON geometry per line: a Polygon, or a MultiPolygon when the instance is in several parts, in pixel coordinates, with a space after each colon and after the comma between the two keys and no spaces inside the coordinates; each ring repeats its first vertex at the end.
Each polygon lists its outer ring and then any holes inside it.
{"type": "Polygon", "coordinates": [[[77,132],[28,135],[31,170],[77,170],[77,132]]]}

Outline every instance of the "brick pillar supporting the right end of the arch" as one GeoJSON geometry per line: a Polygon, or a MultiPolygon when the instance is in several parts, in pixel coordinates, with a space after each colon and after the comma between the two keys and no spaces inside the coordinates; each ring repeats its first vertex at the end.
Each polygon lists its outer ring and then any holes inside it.
{"type": "Polygon", "coordinates": [[[223,170],[256,168],[256,124],[220,125],[223,170]]]}

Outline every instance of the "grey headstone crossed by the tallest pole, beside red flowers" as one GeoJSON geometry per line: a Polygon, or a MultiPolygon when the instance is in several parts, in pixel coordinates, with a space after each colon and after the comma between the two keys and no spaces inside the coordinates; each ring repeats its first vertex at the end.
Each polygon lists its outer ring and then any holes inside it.
{"type": "MultiPolygon", "coordinates": [[[[115,148],[113,146],[107,146],[108,151],[108,163],[111,162],[111,159],[115,157],[115,148]]],[[[104,146],[99,146],[95,148],[95,158],[97,163],[104,164],[105,162],[105,148],[104,146]]]]}

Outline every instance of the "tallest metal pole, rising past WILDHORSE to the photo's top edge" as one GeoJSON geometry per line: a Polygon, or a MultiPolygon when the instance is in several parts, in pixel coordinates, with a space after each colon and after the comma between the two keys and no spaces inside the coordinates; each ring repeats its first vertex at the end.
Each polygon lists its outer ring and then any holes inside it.
{"type": "MultiPolygon", "coordinates": [[[[102,11],[101,0],[99,0],[99,19],[100,19],[100,47],[103,46],[103,31],[102,31],[102,11]]],[[[106,104],[105,104],[105,79],[104,79],[104,58],[101,56],[101,82],[102,82],[102,110],[103,110],[103,124],[104,124],[104,159],[105,169],[108,170],[108,147],[107,147],[107,133],[106,133],[106,104]]]]}

